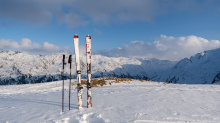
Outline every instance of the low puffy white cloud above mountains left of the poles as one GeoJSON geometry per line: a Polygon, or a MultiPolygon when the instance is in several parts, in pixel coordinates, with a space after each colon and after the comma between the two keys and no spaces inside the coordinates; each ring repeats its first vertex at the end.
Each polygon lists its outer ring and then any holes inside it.
{"type": "Polygon", "coordinates": [[[43,45],[39,45],[37,43],[32,43],[30,39],[23,38],[21,43],[16,41],[11,41],[10,39],[0,39],[0,49],[17,49],[24,51],[37,51],[37,52],[54,52],[59,50],[59,46],[54,44],[50,44],[48,42],[44,42],[43,45]]]}

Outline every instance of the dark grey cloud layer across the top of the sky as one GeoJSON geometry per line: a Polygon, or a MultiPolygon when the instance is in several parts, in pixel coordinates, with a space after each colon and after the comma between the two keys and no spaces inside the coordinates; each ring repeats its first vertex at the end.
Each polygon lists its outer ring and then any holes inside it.
{"type": "Polygon", "coordinates": [[[49,24],[54,18],[57,23],[72,28],[89,23],[150,22],[155,16],[167,13],[213,9],[216,2],[218,0],[1,0],[0,18],[32,25],[49,24]]]}

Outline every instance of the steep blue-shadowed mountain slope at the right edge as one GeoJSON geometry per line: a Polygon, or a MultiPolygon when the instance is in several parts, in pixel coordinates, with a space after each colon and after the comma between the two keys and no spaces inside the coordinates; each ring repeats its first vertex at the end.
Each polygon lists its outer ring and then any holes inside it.
{"type": "Polygon", "coordinates": [[[180,60],[156,80],[181,84],[213,84],[220,81],[220,49],[180,60]]]}

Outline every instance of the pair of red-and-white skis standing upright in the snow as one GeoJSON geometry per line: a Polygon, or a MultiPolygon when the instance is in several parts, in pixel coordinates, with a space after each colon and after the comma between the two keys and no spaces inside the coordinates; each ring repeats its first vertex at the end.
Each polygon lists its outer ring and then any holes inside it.
{"type": "MultiPolygon", "coordinates": [[[[78,95],[78,108],[83,107],[82,103],[82,91],[81,85],[81,69],[79,60],[79,37],[74,35],[73,37],[75,57],[76,57],[76,73],[77,73],[77,95],[78,95]]],[[[92,107],[92,89],[91,89],[91,36],[86,36],[86,61],[87,61],[87,108],[92,107]]]]}

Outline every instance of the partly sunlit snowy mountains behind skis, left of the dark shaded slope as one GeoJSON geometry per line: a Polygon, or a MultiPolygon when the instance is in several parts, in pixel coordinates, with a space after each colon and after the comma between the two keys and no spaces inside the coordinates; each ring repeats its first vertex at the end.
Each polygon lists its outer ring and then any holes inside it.
{"type": "MultiPolygon", "coordinates": [[[[0,84],[27,84],[61,80],[62,58],[66,62],[70,53],[61,51],[47,55],[31,55],[16,51],[0,52],[0,84]]],[[[73,58],[75,56],[73,55],[73,58]]],[[[82,78],[86,78],[86,57],[80,56],[82,78]]],[[[76,78],[75,60],[72,78],[76,78]]],[[[149,80],[173,67],[176,62],[157,59],[106,57],[92,55],[92,78],[122,77],[149,80]]],[[[65,79],[69,78],[69,64],[65,66],[65,79]]]]}

